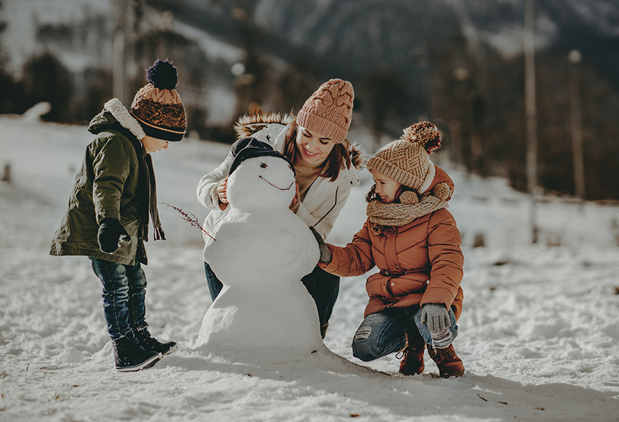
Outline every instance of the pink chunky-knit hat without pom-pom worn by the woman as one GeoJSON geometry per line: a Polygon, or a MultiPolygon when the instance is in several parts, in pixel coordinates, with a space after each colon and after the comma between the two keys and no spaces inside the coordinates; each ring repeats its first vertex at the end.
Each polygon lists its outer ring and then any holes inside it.
{"type": "Polygon", "coordinates": [[[352,83],[331,79],[318,87],[297,115],[297,124],[341,144],[352,117],[352,83]]]}

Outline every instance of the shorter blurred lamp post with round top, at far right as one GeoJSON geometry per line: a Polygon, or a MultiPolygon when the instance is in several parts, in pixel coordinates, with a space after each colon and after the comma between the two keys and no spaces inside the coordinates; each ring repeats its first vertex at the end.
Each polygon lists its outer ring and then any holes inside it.
{"type": "Polygon", "coordinates": [[[576,196],[585,199],[584,153],[582,150],[582,116],[580,111],[580,92],[578,90],[578,64],[582,55],[578,50],[570,51],[570,126],[572,130],[572,163],[574,167],[574,187],[576,196]]]}

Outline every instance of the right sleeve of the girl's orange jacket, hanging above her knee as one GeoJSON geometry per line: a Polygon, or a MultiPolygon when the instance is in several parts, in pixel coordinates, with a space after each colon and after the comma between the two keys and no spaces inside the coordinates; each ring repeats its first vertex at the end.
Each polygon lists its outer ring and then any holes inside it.
{"type": "Polygon", "coordinates": [[[460,249],[460,232],[447,210],[438,210],[428,225],[428,255],[431,271],[428,287],[421,299],[426,303],[442,303],[447,309],[454,302],[460,281],[464,256],[460,249]]]}

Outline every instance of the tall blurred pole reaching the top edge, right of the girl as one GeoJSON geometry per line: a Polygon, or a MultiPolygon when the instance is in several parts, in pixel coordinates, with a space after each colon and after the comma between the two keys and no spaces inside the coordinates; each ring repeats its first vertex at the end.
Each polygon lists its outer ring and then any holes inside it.
{"type": "Polygon", "coordinates": [[[525,117],[527,126],[527,188],[531,195],[531,242],[538,241],[537,225],[537,109],[535,88],[535,0],[525,0],[525,117]]]}

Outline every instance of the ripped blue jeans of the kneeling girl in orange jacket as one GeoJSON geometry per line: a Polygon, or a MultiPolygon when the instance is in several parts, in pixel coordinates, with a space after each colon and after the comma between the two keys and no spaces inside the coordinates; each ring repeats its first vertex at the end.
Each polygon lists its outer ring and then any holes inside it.
{"type": "MultiPolygon", "coordinates": [[[[452,323],[449,333],[453,341],[458,335],[458,326],[456,315],[451,309],[449,321],[452,323]]],[[[390,309],[365,317],[353,337],[352,354],[364,362],[369,362],[399,352],[406,346],[405,332],[433,347],[430,330],[421,323],[421,310],[390,309]]]]}

